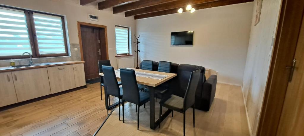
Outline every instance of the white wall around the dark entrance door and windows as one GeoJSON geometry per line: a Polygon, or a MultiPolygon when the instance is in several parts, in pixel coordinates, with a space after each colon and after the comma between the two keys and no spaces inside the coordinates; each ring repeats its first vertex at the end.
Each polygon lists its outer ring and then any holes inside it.
{"type": "MultiPolygon", "coordinates": [[[[133,17],[125,18],[124,14],[114,15],[111,8],[100,11],[97,9],[95,2],[81,6],[79,0],[1,0],[0,4],[66,16],[70,44],[79,44],[77,21],[107,26],[108,46],[109,48],[113,48],[113,50],[108,50],[109,59],[115,68],[117,66],[117,57],[115,57],[115,25],[130,27],[132,35],[135,33],[135,21],[133,17]],[[89,13],[98,15],[98,22],[88,20],[89,13]]],[[[5,61],[6,63],[8,66],[9,61],[5,61]]]]}

